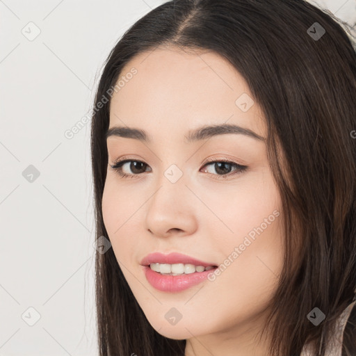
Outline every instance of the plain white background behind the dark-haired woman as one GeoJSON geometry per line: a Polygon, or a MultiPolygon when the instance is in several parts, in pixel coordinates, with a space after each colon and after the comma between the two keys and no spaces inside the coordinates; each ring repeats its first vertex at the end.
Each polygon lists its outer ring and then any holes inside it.
{"type": "MultiPolygon", "coordinates": [[[[163,2],[0,0],[0,356],[97,355],[90,122],[64,133],[120,36],[163,2]]],[[[320,2],[355,24],[355,0],[320,2]]]]}

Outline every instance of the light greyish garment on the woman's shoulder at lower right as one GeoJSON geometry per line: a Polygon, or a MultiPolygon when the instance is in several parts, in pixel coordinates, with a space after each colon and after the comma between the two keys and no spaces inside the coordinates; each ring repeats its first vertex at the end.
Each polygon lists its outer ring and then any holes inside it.
{"type": "MultiPolygon", "coordinates": [[[[355,299],[355,298],[354,298],[355,299]]],[[[345,330],[348,317],[351,310],[356,305],[356,300],[352,302],[346,309],[343,310],[339,318],[337,319],[337,325],[334,326],[334,333],[332,339],[327,342],[326,353],[327,356],[341,356],[342,343],[343,343],[343,331],[345,330]]],[[[305,345],[302,349],[300,356],[317,356],[312,355],[312,352],[308,345],[305,345]]]]}

